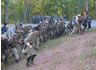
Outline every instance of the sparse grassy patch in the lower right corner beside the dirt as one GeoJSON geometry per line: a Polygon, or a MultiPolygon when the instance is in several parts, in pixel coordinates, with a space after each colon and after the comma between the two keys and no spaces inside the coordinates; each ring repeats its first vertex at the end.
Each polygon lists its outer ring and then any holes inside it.
{"type": "MultiPolygon", "coordinates": [[[[95,40],[94,40],[95,41],[95,40]]],[[[92,45],[95,42],[89,43],[91,45],[86,45],[86,49],[79,57],[77,57],[76,65],[80,70],[96,70],[96,43],[95,46],[92,45]]]]}

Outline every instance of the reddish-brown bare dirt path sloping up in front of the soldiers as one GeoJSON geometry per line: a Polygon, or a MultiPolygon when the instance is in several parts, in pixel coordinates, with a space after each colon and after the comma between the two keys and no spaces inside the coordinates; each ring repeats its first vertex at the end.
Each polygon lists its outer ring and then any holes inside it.
{"type": "Polygon", "coordinates": [[[32,67],[26,67],[24,59],[6,70],[83,70],[78,64],[79,57],[91,49],[96,51],[95,31],[73,36],[55,49],[45,49],[36,57],[32,67]]]}

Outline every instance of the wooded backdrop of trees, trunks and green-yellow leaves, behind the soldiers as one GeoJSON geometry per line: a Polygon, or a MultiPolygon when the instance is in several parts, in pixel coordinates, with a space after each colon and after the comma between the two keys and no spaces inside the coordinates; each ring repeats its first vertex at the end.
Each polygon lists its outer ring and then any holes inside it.
{"type": "MultiPolygon", "coordinates": [[[[1,0],[2,23],[31,22],[32,15],[66,15],[68,19],[84,12],[87,0],[1,0]],[[78,6],[78,1],[80,5],[78,6]],[[78,9],[79,8],[79,9],[78,9]],[[28,11],[28,12],[27,12],[28,11]]],[[[89,0],[88,14],[96,18],[96,0],[89,0]]]]}

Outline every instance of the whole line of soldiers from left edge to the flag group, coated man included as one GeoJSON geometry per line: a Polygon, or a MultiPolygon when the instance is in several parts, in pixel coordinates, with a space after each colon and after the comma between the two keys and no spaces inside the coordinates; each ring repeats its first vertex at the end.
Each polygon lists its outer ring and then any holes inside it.
{"type": "Polygon", "coordinates": [[[54,24],[50,24],[47,21],[39,23],[35,28],[32,28],[32,26],[24,26],[24,28],[16,26],[15,34],[13,34],[11,39],[7,39],[6,36],[3,35],[1,36],[1,42],[3,42],[1,43],[1,50],[2,57],[3,55],[5,55],[5,64],[6,62],[8,62],[7,53],[12,52],[12,54],[15,56],[16,62],[19,62],[19,60],[22,59],[22,53],[26,54],[26,65],[31,66],[32,64],[34,64],[33,60],[38,54],[39,46],[42,45],[42,43],[50,39],[58,38],[59,36],[68,32],[71,35],[75,33],[76,30],[81,33],[80,22],[82,21],[83,19],[81,20],[81,16],[78,15],[74,22],[74,25],[71,22],[67,24],[67,26],[65,26],[64,21],[54,24]]]}

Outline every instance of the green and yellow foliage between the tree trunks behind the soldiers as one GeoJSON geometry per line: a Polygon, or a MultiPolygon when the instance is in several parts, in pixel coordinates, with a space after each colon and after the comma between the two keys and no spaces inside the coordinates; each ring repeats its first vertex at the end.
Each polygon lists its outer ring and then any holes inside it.
{"type": "MultiPolygon", "coordinates": [[[[10,20],[17,21],[24,17],[24,4],[25,0],[1,0],[1,16],[2,21],[4,17],[4,2],[8,1],[8,15],[9,23],[10,20]]],[[[35,0],[32,0],[32,3],[35,0]]],[[[80,0],[80,13],[84,12],[85,1],[80,0]]],[[[29,10],[29,0],[27,0],[29,10]]],[[[95,9],[93,8],[93,0],[89,0],[89,16],[96,19],[96,5],[95,9]]],[[[38,0],[31,8],[31,16],[40,14],[40,15],[54,15],[60,14],[63,15],[62,11],[68,19],[71,19],[72,16],[78,14],[78,0],[38,0]],[[57,13],[57,10],[59,13],[57,13]]],[[[28,15],[28,12],[27,12],[28,15]]]]}

